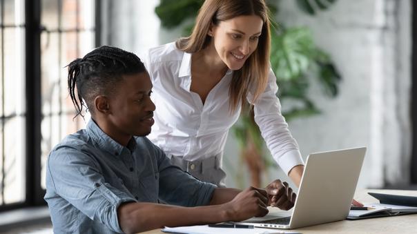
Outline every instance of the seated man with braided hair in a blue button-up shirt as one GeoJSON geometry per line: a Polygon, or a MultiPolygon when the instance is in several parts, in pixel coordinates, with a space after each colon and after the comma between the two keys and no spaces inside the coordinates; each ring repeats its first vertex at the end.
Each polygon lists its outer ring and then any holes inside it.
{"type": "Polygon", "coordinates": [[[92,119],[46,163],[55,233],[135,233],[245,220],[266,215],[271,203],[293,206],[295,194],[279,180],[268,192],[217,188],[171,165],[145,137],[154,123],[152,87],[142,61],[119,48],[102,46],[68,65],[77,115],[87,107],[92,119]]]}

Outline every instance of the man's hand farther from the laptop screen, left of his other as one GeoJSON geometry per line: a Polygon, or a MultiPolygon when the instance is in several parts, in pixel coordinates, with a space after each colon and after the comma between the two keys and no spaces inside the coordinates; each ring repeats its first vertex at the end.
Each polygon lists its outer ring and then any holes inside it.
{"type": "Polygon", "coordinates": [[[262,217],[269,211],[268,195],[262,188],[249,187],[225,204],[231,221],[247,220],[250,217],[262,217]]]}

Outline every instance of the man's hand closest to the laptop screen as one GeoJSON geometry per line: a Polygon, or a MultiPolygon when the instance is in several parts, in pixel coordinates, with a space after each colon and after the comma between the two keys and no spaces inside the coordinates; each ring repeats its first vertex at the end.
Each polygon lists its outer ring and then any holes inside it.
{"type": "Polygon", "coordinates": [[[294,206],[297,195],[293,193],[293,189],[289,187],[287,182],[282,183],[280,179],[276,179],[265,189],[268,193],[270,206],[276,206],[284,211],[288,211],[294,206]]]}

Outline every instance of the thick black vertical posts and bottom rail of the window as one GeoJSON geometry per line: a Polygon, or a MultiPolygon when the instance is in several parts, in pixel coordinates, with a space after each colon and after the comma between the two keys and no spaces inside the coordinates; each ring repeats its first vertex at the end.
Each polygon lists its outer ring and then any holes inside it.
{"type": "MultiPolygon", "coordinates": [[[[1,0],[3,1],[3,0],[1,0]]],[[[57,0],[62,1],[62,0],[57,0]]],[[[80,0],[77,0],[80,1],[80,0]]],[[[101,43],[101,3],[95,1],[95,46],[101,43]]],[[[23,24],[26,81],[26,198],[16,204],[0,204],[0,212],[17,208],[46,206],[46,191],[41,187],[41,0],[24,0],[23,24]]],[[[3,28],[3,25],[2,25],[3,28]]],[[[4,56],[4,55],[2,55],[4,56]]]]}

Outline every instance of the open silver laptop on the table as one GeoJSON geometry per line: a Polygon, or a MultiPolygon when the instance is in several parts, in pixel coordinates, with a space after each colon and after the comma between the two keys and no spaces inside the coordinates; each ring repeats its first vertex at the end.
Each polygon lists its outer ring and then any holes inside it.
{"type": "Polygon", "coordinates": [[[293,229],[345,220],[366,150],[361,147],[309,155],[291,216],[266,215],[235,224],[293,229]]]}

